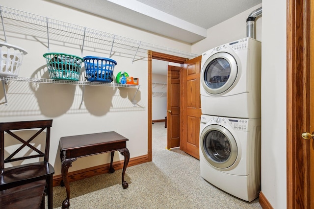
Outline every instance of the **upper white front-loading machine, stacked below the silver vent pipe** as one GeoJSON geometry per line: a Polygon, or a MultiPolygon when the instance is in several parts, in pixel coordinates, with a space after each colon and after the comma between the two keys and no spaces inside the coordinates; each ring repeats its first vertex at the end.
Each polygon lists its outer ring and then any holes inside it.
{"type": "Polygon", "coordinates": [[[261,117],[261,42],[244,38],[202,54],[202,114],[261,117]]]}

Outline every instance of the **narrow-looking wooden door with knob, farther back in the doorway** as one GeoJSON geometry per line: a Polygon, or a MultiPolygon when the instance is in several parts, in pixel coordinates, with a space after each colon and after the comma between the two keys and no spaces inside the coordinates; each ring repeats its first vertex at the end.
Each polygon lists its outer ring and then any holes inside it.
{"type": "Polygon", "coordinates": [[[180,70],[168,66],[167,74],[167,149],[180,146],[180,70]]]}

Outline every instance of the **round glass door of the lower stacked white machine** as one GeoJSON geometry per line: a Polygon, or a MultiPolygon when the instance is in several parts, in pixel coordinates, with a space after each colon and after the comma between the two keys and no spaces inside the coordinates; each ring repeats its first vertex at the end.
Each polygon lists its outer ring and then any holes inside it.
{"type": "Polygon", "coordinates": [[[200,148],[206,161],[216,168],[228,168],[235,163],[236,141],[223,126],[207,126],[200,136],[200,148]]]}

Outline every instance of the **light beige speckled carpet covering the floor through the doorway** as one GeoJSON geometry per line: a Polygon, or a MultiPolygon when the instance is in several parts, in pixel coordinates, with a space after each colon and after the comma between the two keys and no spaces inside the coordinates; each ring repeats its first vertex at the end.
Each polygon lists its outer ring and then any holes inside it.
{"type": "MultiPolygon", "coordinates": [[[[180,148],[166,149],[164,122],[153,127],[153,162],[70,183],[70,209],[262,209],[212,186],[200,176],[199,160],[180,148]]],[[[130,142],[128,142],[130,143],[130,142]]],[[[65,187],[53,187],[53,208],[61,209],[65,187]]],[[[46,202],[47,208],[47,202],[46,202]]]]}

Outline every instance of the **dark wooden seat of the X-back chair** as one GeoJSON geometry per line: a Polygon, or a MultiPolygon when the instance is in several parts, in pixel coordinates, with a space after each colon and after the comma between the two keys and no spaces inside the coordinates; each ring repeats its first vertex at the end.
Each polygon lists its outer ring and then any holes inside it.
{"type": "Polygon", "coordinates": [[[54,169],[48,162],[28,163],[4,168],[0,170],[0,191],[22,183],[36,181],[36,179],[46,179],[53,174],[54,169]]]}

